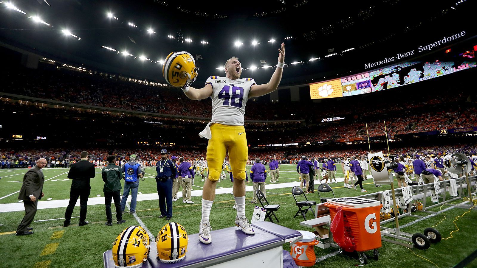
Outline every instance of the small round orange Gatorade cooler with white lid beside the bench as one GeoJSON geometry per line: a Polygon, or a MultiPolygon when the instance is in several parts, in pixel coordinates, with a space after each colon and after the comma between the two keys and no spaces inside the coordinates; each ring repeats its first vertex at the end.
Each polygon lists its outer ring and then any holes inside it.
{"type": "Polygon", "coordinates": [[[315,239],[316,235],[309,231],[299,232],[303,238],[295,244],[291,244],[290,255],[299,266],[313,266],[316,262],[314,246],[318,245],[318,240],[315,239]]]}

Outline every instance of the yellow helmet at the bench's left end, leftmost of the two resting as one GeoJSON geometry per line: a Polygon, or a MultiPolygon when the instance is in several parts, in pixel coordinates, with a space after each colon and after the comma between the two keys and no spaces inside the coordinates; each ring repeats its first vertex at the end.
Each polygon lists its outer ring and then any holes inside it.
{"type": "Polygon", "coordinates": [[[125,228],[113,243],[115,267],[136,268],[147,260],[149,255],[149,235],[140,226],[125,228]]]}

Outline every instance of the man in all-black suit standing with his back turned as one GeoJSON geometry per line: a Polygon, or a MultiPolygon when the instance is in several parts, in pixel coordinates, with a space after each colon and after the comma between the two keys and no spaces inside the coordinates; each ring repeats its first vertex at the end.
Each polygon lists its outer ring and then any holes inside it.
{"type": "Polygon", "coordinates": [[[94,170],[94,164],[88,162],[88,152],[81,152],[81,161],[71,165],[70,172],[68,172],[68,178],[73,179],[70,190],[70,203],[64,213],[63,227],[68,227],[71,221],[71,215],[73,214],[73,208],[80,198],[80,224],[79,226],[87,225],[89,222],[86,219],[86,205],[88,203],[88,197],[90,194],[91,186],[90,179],[96,175],[94,170]]]}

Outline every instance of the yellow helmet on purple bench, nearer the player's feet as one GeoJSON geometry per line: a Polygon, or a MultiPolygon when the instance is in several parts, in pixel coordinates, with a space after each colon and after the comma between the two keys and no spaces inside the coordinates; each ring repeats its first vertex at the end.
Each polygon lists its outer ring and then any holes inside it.
{"type": "Polygon", "coordinates": [[[171,222],[161,228],[156,237],[157,258],[164,263],[176,263],[186,257],[189,237],[182,225],[171,222]]]}

